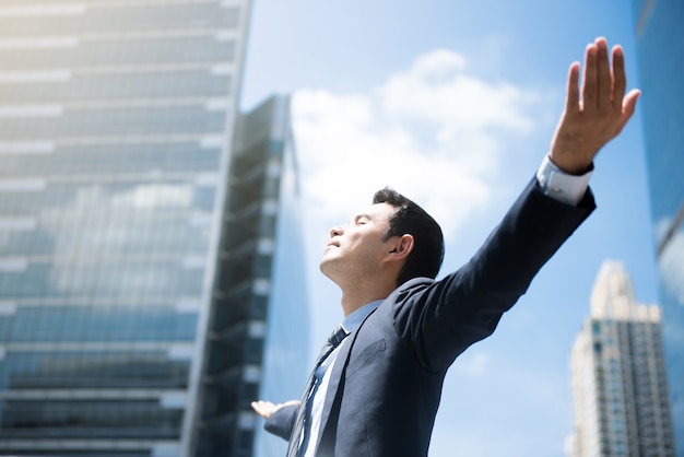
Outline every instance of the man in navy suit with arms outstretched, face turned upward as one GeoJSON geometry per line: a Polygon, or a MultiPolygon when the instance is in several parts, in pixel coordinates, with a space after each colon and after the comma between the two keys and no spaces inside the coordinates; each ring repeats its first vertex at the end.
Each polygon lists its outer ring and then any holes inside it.
{"type": "Polygon", "coordinates": [[[634,113],[624,57],[597,38],[570,66],[565,110],[536,176],[473,258],[440,281],[439,225],[391,189],[333,227],[320,269],[342,290],[343,330],[302,402],[255,401],[288,457],[426,456],[447,370],[594,209],[593,157],[634,113]],[[581,94],[581,95],[580,95],[581,94]]]}

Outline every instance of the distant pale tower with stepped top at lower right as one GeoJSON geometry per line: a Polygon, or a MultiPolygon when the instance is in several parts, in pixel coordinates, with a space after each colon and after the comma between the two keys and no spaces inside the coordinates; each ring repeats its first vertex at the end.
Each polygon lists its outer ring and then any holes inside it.
{"type": "Polygon", "coordinates": [[[660,308],[638,305],[624,266],[606,261],[570,360],[570,457],[674,456],[660,308]]]}

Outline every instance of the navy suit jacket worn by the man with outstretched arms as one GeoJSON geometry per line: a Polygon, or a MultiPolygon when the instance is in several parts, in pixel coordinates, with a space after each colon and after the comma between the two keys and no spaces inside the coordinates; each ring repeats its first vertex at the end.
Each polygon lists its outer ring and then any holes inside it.
{"type": "MultiPolygon", "coordinates": [[[[317,456],[426,456],[447,370],[492,335],[534,274],[594,209],[533,179],[473,258],[440,281],[399,286],[347,337],[332,367],[317,456]]],[[[267,420],[287,440],[296,407],[267,420]]]]}

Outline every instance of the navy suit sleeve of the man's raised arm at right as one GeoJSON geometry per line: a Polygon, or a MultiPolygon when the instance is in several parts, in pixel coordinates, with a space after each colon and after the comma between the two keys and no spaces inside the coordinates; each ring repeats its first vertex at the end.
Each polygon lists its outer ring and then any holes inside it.
{"type": "Polygon", "coordinates": [[[533,179],[468,263],[441,281],[412,280],[394,292],[394,328],[408,350],[425,370],[447,370],[494,332],[594,208],[590,190],[571,207],[544,196],[533,179]]]}

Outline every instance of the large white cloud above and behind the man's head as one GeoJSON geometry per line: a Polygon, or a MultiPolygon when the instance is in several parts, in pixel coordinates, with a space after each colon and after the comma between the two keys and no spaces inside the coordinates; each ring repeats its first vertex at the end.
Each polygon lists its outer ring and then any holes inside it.
{"type": "Polygon", "coordinates": [[[533,129],[535,92],[468,74],[464,56],[438,49],[365,93],[303,90],[294,131],[310,211],[340,223],[389,185],[447,236],[488,202],[510,136],[533,129]]]}

